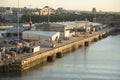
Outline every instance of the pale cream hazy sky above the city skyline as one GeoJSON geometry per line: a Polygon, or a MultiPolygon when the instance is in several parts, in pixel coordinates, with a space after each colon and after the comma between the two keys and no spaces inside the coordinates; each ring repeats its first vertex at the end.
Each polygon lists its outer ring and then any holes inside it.
{"type": "Polygon", "coordinates": [[[92,11],[113,11],[120,12],[120,0],[0,0],[0,7],[20,7],[43,8],[50,6],[53,9],[64,8],[67,10],[92,11]]]}

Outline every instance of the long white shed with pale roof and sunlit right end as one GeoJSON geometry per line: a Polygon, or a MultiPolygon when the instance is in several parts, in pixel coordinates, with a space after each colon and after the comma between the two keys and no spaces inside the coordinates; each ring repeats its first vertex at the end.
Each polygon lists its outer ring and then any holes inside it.
{"type": "Polygon", "coordinates": [[[55,41],[59,39],[59,32],[50,32],[50,31],[25,31],[22,33],[22,38],[24,40],[52,40],[55,41]]]}

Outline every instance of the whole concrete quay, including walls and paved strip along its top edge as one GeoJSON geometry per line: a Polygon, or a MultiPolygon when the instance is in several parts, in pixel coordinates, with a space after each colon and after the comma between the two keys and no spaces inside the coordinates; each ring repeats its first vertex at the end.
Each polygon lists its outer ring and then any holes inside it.
{"type": "Polygon", "coordinates": [[[24,71],[38,64],[52,62],[56,58],[61,58],[65,53],[74,51],[80,47],[89,46],[92,42],[107,37],[109,30],[101,30],[92,34],[71,37],[69,40],[63,40],[61,43],[55,42],[55,48],[41,48],[37,54],[21,55],[19,61],[0,66],[0,72],[24,71]]]}

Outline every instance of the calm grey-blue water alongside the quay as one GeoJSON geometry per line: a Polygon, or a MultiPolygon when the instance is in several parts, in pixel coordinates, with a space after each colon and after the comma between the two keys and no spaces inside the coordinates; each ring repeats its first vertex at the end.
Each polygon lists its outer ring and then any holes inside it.
{"type": "Polygon", "coordinates": [[[2,73],[0,80],[120,80],[120,35],[109,36],[46,66],[2,73]]]}

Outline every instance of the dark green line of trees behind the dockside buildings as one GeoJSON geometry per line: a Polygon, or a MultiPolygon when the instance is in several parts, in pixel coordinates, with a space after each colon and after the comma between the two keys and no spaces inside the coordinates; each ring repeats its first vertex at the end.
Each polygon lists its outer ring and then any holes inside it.
{"type": "Polygon", "coordinates": [[[61,13],[61,14],[52,14],[52,15],[35,15],[35,14],[24,14],[21,18],[21,22],[29,22],[30,16],[32,22],[63,22],[63,21],[82,21],[87,18],[89,21],[93,21],[94,17],[112,17],[112,18],[119,18],[120,14],[111,14],[111,13],[81,13],[81,14],[74,14],[74,13],[61,13]]]}

